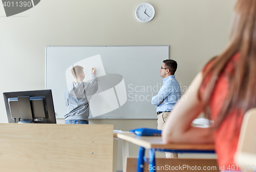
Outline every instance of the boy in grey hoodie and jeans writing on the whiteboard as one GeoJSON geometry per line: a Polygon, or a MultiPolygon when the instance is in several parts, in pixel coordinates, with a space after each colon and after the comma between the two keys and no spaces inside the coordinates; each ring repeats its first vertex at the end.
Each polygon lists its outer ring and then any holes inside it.
{"type": "Polygon", "coordinates": [[[71,73],[76,79],[72,82],[65,92],[65,103],[67,111],[65,114],[65,124],[89,124],[89,96],[98,90],[98,80],[95,76],[95,68],[91,69],[92,83],[84,82],[83,67],[75,66],[71,73]]]}

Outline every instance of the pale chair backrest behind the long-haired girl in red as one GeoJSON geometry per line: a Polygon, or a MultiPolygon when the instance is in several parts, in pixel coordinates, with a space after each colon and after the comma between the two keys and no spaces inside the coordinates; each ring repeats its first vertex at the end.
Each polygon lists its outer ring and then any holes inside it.
{"type": "Polygon", "coordinates": [[[243,171],[256,170],[256,108],[245,113],[234,158],[243,171]]]}

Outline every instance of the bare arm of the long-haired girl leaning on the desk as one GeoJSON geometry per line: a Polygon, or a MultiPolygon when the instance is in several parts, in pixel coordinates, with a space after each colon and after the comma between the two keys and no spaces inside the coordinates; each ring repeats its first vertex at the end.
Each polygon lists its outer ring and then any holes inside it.
{"type": "Polygon", "coordinates": [[[210,128],[191,126],[192,121],[202,112],[202,102],[197,96],[201,82],[202,73],[200,72],[190,84],[190,89],[175,104],[162,132],[162,139],[165,143],[214,142],[210,128]]]}

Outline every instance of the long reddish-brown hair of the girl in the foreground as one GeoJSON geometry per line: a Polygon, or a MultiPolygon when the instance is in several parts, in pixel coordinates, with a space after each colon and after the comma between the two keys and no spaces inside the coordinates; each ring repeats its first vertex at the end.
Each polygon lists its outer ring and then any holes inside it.
{"type": "Polygon", "coordinates": [[[237,53],[240,58],[233,69],[233,75],[228,76],[228,94],[215,121],[215,129],[231,110],[239,109],[245,113],[256,107],[256,0],[237,2],[229,45],[221,55],[212,59],[210,67],[203,72],[198,95],[208,119],[211,119],[210,98],[218,77],[237,53]]]}

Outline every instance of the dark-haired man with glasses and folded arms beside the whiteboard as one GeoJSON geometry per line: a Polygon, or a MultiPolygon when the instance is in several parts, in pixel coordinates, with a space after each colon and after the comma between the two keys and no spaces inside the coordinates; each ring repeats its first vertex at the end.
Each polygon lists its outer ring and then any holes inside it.
{"type": "MultiPolygon", "coordinates": [[[[163,130],[165,121],[170,115],[175,103],[181,97],[179,82],[175,79],[177,62],[175,60],[163,60],[160,69],[160,76],[163,78],[163,85],[158,94],[152,97],[152,104],[157,108],[157,129],[163,130]]],[[[177,157],[177,154],[165,153],[166,158],[177,157]]]]}

